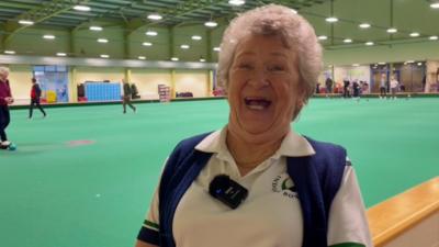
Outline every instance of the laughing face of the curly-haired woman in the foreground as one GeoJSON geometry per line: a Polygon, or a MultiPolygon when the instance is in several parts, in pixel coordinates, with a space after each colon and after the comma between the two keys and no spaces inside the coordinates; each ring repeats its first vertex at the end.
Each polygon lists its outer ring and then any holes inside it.
{"type": "Polygon", "coordinates": [[[228,76],[229,128],[248,141],[282,138],[295,109],[302,106],[300,78],[296,54],[281,37],[245,37],[228,76]]]}

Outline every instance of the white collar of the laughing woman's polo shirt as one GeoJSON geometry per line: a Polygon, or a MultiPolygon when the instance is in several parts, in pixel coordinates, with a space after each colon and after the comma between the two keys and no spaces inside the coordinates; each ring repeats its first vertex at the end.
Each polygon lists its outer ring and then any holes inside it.
{"type": "MultiPolygon", "coordinates": [[[[216,153],[218,156],[229,156],[226,145],[227,127],[221,131],[216,131],[207,135],[196,146],[196,150],[204,153],[216,153]]],[[[280,148],[274,153],[273,158],[280,158],[281,156],[288,157],[301,157],[312,156],[315,154],[313,146],[309,142],[291,130],[282,141],[280,148]]]]}

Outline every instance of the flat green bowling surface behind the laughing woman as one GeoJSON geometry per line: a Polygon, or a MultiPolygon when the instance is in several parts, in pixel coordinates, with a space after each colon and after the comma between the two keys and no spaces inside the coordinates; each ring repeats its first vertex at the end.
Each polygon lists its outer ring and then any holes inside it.
{"type": "MultiPolygon", "coordinates": [[[[227,122],[225,100],[13,110],[0,150],[0,246],[133,246],[173,145],[227,122]]],[[[297,132],[348,149],[371,206],[439,175],[439,99],[313,99],[297,132]]]]}

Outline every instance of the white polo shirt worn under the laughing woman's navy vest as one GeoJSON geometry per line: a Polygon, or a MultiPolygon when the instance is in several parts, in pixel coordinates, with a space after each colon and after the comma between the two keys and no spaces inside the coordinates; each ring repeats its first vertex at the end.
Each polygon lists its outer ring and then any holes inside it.
{"type": "MultiPolygon", "coordinates": [[[[195,147],[213,155],[177,206],[172,225],[177,247],[301,247],[302,211],[286,172],[286,157],[313,155],[313,147],[291,131],[273,156],[240,176],[227,149],[226,133],[226,128],[214,132],[195,147]],[[237,209],[209,194],[209,184],[217,175],[228,175],[248,189],[247,199],[237,209]]],[[[158,231],[158,220],[156,191],[144,226],[158,231]]],[[[357,178],[352,167],[346,166],[330,207],[328,245],[370,247],[370,239],[357,178]]]]}

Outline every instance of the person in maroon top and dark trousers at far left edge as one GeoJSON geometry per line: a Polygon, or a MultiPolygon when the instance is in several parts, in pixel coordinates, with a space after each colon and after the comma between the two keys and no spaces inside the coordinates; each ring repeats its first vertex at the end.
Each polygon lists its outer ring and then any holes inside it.
{"type": "Polygon", "coordinates": [[[5,133],[5,128],[11,121],[8,105],[13,103],[8,76],[9,69],[5,67],[0,67],[0,148],[7,148],[9,145],[11,145],[5,133]]]}

